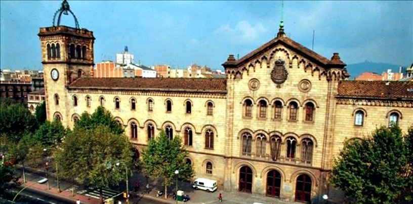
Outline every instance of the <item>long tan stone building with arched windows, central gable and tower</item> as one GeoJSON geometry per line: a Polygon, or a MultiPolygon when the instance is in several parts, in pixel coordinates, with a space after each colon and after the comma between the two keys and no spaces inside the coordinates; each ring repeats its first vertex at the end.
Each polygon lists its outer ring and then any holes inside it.
{"type": "Polygon", "coordinates": [[[64,48],[52,63],[46,47],[61,36],[67,47],[79,33],[87,33],[79,38],[93,54],[91,31],[40,28],[48,120],[73,127],[81,113],[103,106],[138,151],[161,130],[180,135],[196,177],[218,180],[226,191],[304,202],[328,194],[337,201],[327,181],[344,141],[368,136],[376,125],[411,125],[413,83],[347,81],[339,54],[324,58],[286,37],[282,26],[243,58],[230,55],[226,78],[70,80],[74,69],[92,73],[93,56],[75,67],[64,48]]]}

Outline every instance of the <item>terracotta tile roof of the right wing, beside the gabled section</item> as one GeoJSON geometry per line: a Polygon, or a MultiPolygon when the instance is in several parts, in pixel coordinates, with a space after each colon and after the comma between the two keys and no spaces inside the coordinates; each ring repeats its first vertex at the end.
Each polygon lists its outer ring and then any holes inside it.
{"type": "Polygon", "coordinates": [[[413,82],[340,81],[337,97],[373,97],[413,99],[413,82]]]}

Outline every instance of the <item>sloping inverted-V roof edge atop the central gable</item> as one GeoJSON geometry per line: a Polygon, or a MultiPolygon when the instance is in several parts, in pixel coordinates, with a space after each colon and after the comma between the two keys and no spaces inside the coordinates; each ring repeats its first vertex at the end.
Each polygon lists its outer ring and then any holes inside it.
{"type": "Polygon", "coordinates": [[[288,37],[274,38],[274,39],[268,41],[267,43],[263,44],[262,46],[258,47],[253,52],[251,52],[251,53],[247,54],[246,56],[242,57],[239,60],[235,61],[235,59],[232,59],[233,58],[233,56],[232,56],[231,60],[233,62],[228,62],[228,61],[231,61],[230,59],[228,59],[227,62],[225,62],[223,65],[226,65],[226,64],[241,65],[244,62],[251,60],[252,58],[257,56],[258,54],[260,54],[262,52],[265,52],[268,48],[272,47],[272,45],[274,45],[276,43],[283,43],[287,47],[294,48],[295,50],[298,51],[298,53],[300,55],[303,55],[304,57],[309,58],[310,60],[317,61],[321,65],[325,65],[325,66],[338,65],[339,67],[346,66],[346,64],[344,64],[340,60],[340,57],[339,57],[338,53],[334,53],[332,59],[328,60],[327,58],[313,52],[311,49],[305,47],[304,45],[302,45],[302,44],[300,44],[300,43],[298,43],[298,42],[296,42],[296,41],[294,41],[294,40],[292,40],[288,37]]]}

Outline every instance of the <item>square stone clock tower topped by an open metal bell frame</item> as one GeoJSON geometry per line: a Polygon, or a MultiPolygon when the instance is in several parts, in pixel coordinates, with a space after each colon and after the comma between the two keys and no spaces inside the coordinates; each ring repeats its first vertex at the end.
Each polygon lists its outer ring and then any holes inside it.
{"type": "MultiPolygon", "coordinates": [[[[71,96],[66,87],[80,77],[93,77],[93,32],[79,28],[76,16],[66,0],[53,17],[53,26],[40,28],[38,33],[42,47],[42,64],[45,80],[47,119],[70,118],[71,96]],[[60,25],[63,15],[74,18],[75,27],[60,25]],[[57,17],[57,23],[55,20],[57,17]]],[[[62,121],[67,124],[68,121],[62,121]]]]}

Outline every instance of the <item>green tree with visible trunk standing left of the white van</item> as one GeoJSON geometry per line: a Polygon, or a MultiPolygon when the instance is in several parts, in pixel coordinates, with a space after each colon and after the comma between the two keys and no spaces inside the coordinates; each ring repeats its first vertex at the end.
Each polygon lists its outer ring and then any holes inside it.
{"type": "Polygon", "coordinates": [[[194,174],[192,165],[186,163],[188,151],[182,146],[179,136],[170,140],[164,131],[151,139],[148,147],[142,150],[142,171],[151,177],[162,178],[167,198],[167,186],[174,182],[175,170],[178,177],[186,180],[194,174]]]}

